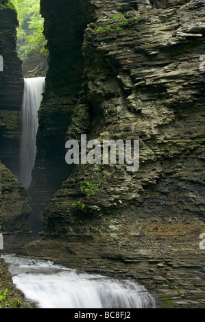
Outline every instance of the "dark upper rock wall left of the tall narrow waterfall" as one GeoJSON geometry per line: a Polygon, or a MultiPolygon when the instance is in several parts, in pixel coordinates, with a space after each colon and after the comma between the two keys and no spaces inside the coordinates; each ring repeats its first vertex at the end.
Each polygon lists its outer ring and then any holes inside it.
{"type": "Polygon", "coordinates": [[[22,62],[16,53],[17,14],[9,1],[0,4],[0,160],[18,175],[23,99],[22,62]]]}

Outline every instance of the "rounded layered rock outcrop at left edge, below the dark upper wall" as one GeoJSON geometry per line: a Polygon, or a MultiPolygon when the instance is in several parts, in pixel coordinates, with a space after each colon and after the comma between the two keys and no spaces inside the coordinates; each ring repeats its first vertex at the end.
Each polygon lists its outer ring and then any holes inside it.
{"type": "Polygon", "coordinates": [[[0,179],[3,250],[18,252],[32,240],[31,208],[23,184],[3,164],[0,164],[0,179]]]}

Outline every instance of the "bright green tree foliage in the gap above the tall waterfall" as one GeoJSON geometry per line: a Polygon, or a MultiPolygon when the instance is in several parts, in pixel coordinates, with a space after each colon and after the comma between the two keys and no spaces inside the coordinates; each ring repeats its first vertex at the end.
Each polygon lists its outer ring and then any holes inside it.
{"type": "Polygon", "coordinates": [[[19,20],[16,46],[19,57],[25,60],[29,51],[35,49],[37,53],[39,47],[43,47],[43,53],[47,55],[46,40],[43,35],[44,19],[40,15],[40,0],[10,0],[10,2],[15,6],[19,20]]]}

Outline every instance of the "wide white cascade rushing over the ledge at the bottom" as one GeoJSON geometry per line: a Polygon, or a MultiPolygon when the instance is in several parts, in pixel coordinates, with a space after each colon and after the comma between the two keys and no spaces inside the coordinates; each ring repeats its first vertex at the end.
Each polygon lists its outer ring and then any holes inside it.
{"type": "Polygon", "coordinates": [[[14,284],[39,308],[155,308],[144,286],[132,280],[77,273],[50,261],[2,256],[14,284]]]}

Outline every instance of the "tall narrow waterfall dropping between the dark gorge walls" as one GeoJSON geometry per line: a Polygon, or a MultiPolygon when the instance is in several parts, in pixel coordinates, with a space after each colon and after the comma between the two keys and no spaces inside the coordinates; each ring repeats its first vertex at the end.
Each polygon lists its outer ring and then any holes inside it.
{"type": "Polygon", "coordinates": [[[45,77],[24,79],[22,104],[22,138],[20,153],[20,180],[27,188],[32,181],[32,169],[36,157],[36,134],[38,130],[38,109],[45,90],[45,77]]]}

